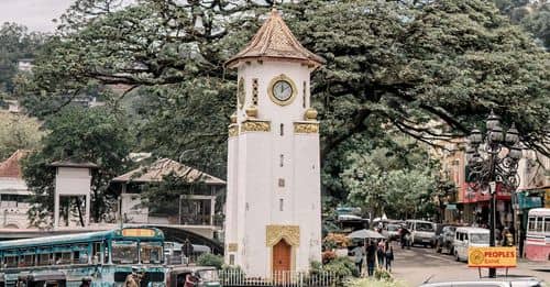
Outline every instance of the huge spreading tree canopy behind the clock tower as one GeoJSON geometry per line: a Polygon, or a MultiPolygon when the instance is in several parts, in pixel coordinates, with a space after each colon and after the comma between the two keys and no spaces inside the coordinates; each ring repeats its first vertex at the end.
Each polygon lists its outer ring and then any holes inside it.
{"type": "MultiPolygon", "coordinates": [[[[34,97],[127,85],[150,99],[135,107],[145,110],[144,146],[176,159],[199,150],[197,162],[223,165],[235,74],[222,63],[271,3],[116,2],[73,5],[36,62],[34,97]]],[[[339,177],[344,167],[332,159],[382,126],[433,144],[468,134],[492,109],[517,123],[527,146],[550,155],[550,56],[493,3],[308,0],[279,9],[300,42],[327,59],[312,78],[323,175],[339,177]]],[[[116,102],[125,95],[113,95],[116,102]]]]}

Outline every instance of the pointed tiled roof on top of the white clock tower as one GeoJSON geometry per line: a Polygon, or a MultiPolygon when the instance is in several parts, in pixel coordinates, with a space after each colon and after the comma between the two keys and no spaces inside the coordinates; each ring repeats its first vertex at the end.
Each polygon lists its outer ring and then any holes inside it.
{"type": "Polygon", "coordinates": [[[275,9],[249,45],[226,62],[226,66],[231,68],[251,58],[292,59],[312,66],[324,63],[323,58],[301,46],[275,9]]]}

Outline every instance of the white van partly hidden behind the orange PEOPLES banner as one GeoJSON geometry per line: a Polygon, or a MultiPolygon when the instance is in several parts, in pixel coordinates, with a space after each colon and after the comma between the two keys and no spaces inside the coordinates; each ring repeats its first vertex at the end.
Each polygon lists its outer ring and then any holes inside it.
{"type": "Polygon", "coordinates": [[[470,246],[488,246],[488,229],[457,228],[457,233],[454,234],[454,241],[452,243],[457,261],[468,262],[468,249],[470,246]]]}

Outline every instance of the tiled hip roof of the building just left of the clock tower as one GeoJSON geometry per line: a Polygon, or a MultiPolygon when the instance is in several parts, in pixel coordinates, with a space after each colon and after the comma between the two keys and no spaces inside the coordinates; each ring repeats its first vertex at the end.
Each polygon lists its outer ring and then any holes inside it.
{"type": "Polygon", "coordinates": [[[150,166],[142,166],[112,179],[113,183],[156,183],[164,177],[174,174],[184,177],[188,183],[202,181],[207,185],[226,185],[222,179],[202,173],[169,158],[161,158],[150,166]]]}

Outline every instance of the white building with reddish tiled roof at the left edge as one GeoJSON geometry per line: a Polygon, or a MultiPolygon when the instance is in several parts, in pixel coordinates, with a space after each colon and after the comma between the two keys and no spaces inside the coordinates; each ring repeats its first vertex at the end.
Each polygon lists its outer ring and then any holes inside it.
{"type": "Polygon", "coordinates": [[[24,229],[29,227],[26,212],[31,191],[21,173],[21,159],[25,151],[16,151],[0,163],[0,228],[24,229]]]}

